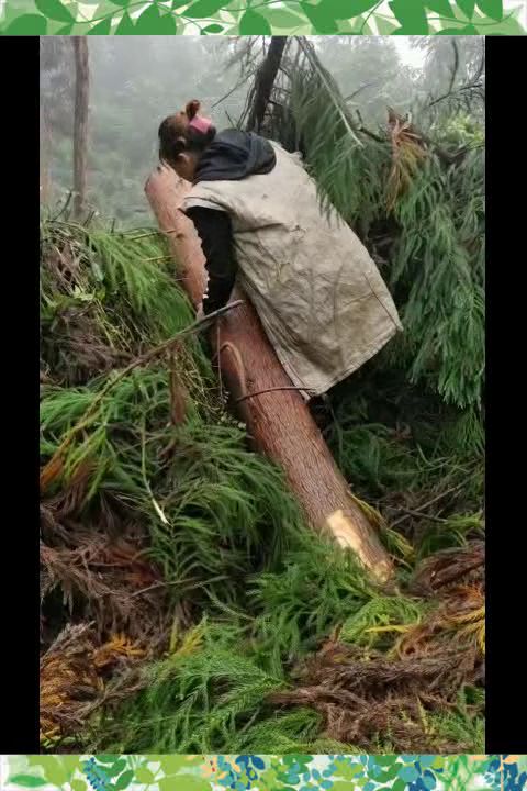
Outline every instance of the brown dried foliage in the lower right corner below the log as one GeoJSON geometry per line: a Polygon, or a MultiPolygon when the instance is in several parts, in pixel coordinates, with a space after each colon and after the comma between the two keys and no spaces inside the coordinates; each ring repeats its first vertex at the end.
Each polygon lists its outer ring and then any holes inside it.
{"type": "Polygon", "coordinates": [[[438,553],[416,573],[439,597],[438,606],[404,631],[391,654],[334,637],[299,669],[299,688],[272,702],[313,706],[323,715],[325,736],[368,751],[380,736],[401,753],[470,749],[429,732],[426,713],[452,709],[464,684],[484,684],[483,564],[480,542],[438,553]]]}

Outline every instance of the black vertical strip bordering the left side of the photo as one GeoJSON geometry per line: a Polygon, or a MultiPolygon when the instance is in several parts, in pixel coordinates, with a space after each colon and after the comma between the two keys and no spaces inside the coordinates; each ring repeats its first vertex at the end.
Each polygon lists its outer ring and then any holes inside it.
{"type": "Polygon", "coordinates": [[[40,40],[2,38],[3,754],[38,753],[40,40]],[[8,242],[9,245],[8,252],[8,242]],[[11,310],[7,310],[8,307],[11,310]]]}

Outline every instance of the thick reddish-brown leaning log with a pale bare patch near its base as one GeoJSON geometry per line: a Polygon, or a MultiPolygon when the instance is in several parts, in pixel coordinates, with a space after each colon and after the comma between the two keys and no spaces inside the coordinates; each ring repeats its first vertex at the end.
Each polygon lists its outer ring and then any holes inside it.
{"type": "MultiPolygon", "coordinates": [[[[189,189],[187,181],[161,166],[145,187],[179,266],[182,286],[195,307],[202,300],[206,272],[192,221],[179,208],[189,189]]],[[[282,467],[307,522],[316,530],[328,531],[340,546],[351,548],[380,581],[386,581],[392,564],[374,527],[350,497],[302,396],[295,390],[277,389],[291,388],[292,382],[256,311],[239,289],[233,293],[236,299],[243,299],[244,304],[217,320],[211,341],[222,379],[231,397],[238,401],[238,413],[256,448],[282,467]]]]}

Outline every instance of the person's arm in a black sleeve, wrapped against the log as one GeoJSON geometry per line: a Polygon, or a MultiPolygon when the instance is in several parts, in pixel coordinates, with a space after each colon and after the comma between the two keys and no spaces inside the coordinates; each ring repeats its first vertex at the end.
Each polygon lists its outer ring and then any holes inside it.
{"type": "Polygon", "coordinates": [[[227,303],[236,279],[231,218],[226,212],[204,207],[191,207],[187,214],[194,223],[205,256],[209,287],[203,313],[208,315],[227,303]]]}

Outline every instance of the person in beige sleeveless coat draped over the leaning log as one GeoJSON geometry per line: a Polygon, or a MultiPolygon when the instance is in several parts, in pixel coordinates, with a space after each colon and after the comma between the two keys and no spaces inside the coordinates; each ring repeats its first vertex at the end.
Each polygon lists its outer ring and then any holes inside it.
{"type": "Polygon", "coordinates": [[[193,186],[183,203],[209,274],[205,315],[235,281],[306,400],[373,357],[402,325],[368,252],[323,211],[298,154],[239,130],[216,133],[193,100],[159,126],[159,157],[193,186]]]}

